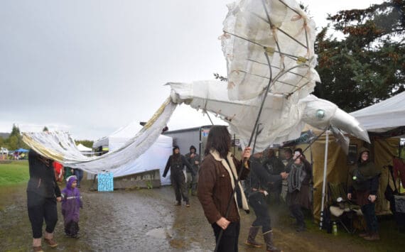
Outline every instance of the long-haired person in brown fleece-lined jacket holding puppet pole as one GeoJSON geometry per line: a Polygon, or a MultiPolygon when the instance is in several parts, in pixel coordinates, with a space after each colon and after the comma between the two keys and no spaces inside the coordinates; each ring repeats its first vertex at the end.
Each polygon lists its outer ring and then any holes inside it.
{"type": "Polygon", "coordinates": [[[197,195],[205,217],[210,222],[215,235],[218,251],[238,251],[240,229],[239,206],[248,211],[249,206],[244,196],[242,185],[238,180],[244,180],[249,174],[250,147],[244,149],[242,160],[237,160],[229,152],[231,135],[227,126],[213,126],[207,138],[205,158],[198,172],[197,195]],[[236,193],[231,199],[236,187],[236,193]],[[227,207],[229,205],[229,214],[227,207]],[[226,218],[225,218],[226,217],[226,218]],[[223,230],[222,239],[218,241],[223,230]]]}

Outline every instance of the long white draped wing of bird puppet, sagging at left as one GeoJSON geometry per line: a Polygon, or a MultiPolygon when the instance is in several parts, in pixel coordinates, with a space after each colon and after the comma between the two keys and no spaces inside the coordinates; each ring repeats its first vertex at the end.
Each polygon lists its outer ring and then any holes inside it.
{"type": "Polygon", "coordinates": [[[118,148],[97,157],[86,157],[77,149],[75,142],[65,132],[33,132],[23,133],[23,141],[41,155],[57,160],[65,166],[80,168],[87,172],[97,173],[102,171],[118,172],[131,160],[135,160],[156,141],[162,128],[176,104],[167,99],[156,111],[148,123],[138,133],[133,132],[133,137],[118,148]]]}

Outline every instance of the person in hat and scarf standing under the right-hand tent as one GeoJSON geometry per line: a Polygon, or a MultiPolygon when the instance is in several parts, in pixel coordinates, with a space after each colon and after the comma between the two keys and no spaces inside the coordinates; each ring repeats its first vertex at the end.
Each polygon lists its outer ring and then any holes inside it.
{"type": "Polygon", "coordinates": [[[362,208],[365,217],[367,230],[360,233],[360,237],[375,241],[379,240],[378,222],[375,215],[375,200],[379,186],[379,170],[369,158],[369,150],[365,147],[360,148],[359,160],[357,166],[350,170],[352,185],[347,190],[347,199],[355,199],[362,208]]]}

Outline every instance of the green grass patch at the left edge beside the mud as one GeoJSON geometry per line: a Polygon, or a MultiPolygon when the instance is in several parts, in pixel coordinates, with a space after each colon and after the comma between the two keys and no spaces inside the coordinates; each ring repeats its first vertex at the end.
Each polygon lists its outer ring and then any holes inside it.
{"type": "Polygon", "coordinates": [[[0,186],[28,182],[29,177],[28,160],[0,163],[0,186]]]}

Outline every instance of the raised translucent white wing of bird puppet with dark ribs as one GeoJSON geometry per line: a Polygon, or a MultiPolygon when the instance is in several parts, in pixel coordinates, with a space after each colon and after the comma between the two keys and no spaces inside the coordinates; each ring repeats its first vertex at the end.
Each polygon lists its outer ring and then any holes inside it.
{"type": "Polygon", "coordinates": [[[313,92],[320,82],[314,70],[315,23],[296,1],[242,0],[228,9],[220,38],[229,100],[259,96],[270,77],[269,92],[289,95],[290,104],[313,92]]]}

